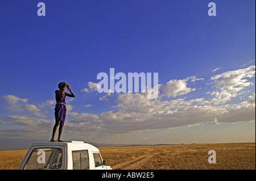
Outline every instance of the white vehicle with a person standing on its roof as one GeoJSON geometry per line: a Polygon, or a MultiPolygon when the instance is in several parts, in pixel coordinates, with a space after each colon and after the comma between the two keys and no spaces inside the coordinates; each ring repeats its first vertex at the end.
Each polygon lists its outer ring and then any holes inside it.
{"type": "Polygon", "coordinates": [[[28,149],[19,170],[112,170],[100,150],[83,141],[38,142],[28,149]]]}

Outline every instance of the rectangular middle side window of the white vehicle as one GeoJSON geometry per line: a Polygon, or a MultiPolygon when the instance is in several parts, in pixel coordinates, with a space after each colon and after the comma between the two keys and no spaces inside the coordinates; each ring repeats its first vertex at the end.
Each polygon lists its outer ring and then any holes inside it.
{"type": "Polygon", "coordinates": [[[89,170],[88,150],[72,151],[73,170],[89,170]]]}

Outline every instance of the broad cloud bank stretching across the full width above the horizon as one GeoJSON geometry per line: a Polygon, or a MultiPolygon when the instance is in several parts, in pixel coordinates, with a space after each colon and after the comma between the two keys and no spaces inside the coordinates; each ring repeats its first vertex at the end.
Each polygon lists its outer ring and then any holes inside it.
{"type": "MultiPolygon", "coordinates": [[[[159,93],[156,99],[148,99],[147,92],[107,93],[98,101],[110,101],[106,96],[111,96],[116,104],[112,105],[112,111],[101,112],[98,115],[76,112],[76,105],[68,104],[65,132],[85,136],[115,135],[199,124],[252,121],[255,120],[255,92],[247,88],[254,85],[250,80],[253,77],[255,77],[254,65],[213,75],[209,83],[204,83],[209,91],[204,92],[200,98],[191,96],[181,98],[181,95],[185,96],[200,90],[200,87],[188,86],[188,83],[205,81],[204,78],[195,76],[179,80],[171,79],[166,84],[160,85],[161,94],[159,93]]],[[[88,87],[82,92],[94,94],[96,87],[97,83],[89,82],[88,87]]],[[[8,103],[6,110],[9,115],[1,118],[0,123],[14,125],[12,128],[0,129],[2,138],[42,138],[46,137],[46,133],[47,136],[51,133],[52,127],[49,124],[54,123],[54,116],[49,117],[48,114],[55,100],[31,104],[29,99],[14,95],[6,95],[2,98],[8,103]]]]}

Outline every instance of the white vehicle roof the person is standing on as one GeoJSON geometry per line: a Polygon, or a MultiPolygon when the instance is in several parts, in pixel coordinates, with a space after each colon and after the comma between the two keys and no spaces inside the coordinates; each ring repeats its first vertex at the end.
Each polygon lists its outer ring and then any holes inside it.
{"type": "Polygon", "coordinates": [[[65,146],[68,150],[90,150],[99,152],[95,146],[85,143],[84,141],[63,141],[63,142],[35,142],[31,146],[65,146]]]}

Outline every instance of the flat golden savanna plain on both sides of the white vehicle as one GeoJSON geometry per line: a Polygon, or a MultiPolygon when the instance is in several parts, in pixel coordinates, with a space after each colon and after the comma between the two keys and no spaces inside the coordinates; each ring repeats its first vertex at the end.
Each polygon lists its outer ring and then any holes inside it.
{"type": "MultiPolygon", "coordinates": [[[[121,170],[255,170],[255,143],[99,148],[106,165],[121,170]],[[216,163],[208,163],[209,150],[216,163]]],[[[0,151],[0,169],[18,169],[27,150],[0,151]]]]}

